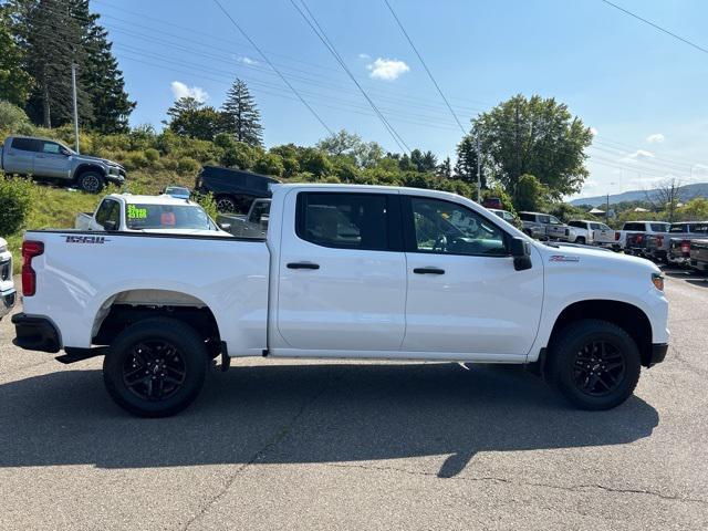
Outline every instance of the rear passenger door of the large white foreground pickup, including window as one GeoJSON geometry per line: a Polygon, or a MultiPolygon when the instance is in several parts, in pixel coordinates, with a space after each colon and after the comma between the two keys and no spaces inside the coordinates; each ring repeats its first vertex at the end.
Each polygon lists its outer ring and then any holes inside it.
{"type": "Polygon", "coordinates": [[[398,195],[303,190],[287,201],[284,219],[293,217],[278,272],[284,347],[319,356],[398,351],[406,301],[398,195]]]}

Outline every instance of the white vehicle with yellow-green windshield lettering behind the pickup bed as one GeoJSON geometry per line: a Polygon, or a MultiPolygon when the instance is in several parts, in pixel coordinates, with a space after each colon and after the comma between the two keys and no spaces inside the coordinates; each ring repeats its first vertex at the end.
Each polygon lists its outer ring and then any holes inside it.
{"type": "Polygon", "coordinates": [[[168,232],[229,237],[198,204],[171,196],[110,194],[95,212],[81,212],[79,230],[107,232],[168,232]]]}

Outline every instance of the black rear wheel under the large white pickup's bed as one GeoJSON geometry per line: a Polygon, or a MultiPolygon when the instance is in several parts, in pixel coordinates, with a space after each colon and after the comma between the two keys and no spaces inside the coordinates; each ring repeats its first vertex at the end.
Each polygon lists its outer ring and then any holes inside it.
{"type": "Polygon", "coordinates": [[[204,386],[209,355],[202,339],[174,319],[147,319],[125,329],[103,362],[111,397],[140,417],[185,409],[204,386]]]}

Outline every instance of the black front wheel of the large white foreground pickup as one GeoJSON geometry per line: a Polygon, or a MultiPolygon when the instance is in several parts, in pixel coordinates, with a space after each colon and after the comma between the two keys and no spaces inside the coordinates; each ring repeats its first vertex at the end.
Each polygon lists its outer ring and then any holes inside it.
{"type": "Polygon", "coordinates": [[[641,357],[620,326],[594,319],[564,329],[551,350],[548,376],[581,409],[611,409],[624,403],[639,381],[641,357]]]}

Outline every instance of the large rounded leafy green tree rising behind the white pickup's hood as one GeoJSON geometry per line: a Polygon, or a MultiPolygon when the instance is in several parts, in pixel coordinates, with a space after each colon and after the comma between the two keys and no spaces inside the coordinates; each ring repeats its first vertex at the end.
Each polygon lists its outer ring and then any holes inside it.
{"type": "Polygon", "coordinates": [[[481,135],[486,169],[512,196],[524,174],[556,200],[579,191],[589,175],[584,150],[592,133],[554,98],[519,94],[482,113],[472,131],[481,135]]]}

